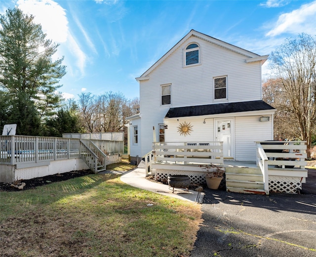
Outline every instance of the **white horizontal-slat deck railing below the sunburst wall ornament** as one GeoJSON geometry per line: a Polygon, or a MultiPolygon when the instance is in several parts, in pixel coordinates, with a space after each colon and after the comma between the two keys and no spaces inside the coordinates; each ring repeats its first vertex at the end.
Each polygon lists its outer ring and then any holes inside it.
{"type": "Polygon", "coordinates": [[[152,152],[155,163],[224,163],[223,142],[160,142],[153,143],[152,152]]]}

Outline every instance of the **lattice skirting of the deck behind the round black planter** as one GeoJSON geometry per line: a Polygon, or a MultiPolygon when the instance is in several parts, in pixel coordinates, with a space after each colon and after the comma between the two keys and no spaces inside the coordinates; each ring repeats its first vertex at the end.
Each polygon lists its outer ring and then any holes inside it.
{"type": "Polygon", "coordinates": [[[192,184],[206,184],[205,171],[180,171],[180,170],[156,170],[156,179],[159,181],[167,181],[169,175],[188,175],[192,184]]]}

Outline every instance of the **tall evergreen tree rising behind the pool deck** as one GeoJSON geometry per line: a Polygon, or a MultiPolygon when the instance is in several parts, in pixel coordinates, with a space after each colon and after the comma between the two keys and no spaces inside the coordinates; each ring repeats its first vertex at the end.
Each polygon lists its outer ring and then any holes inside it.
{"type": "Polygon", "coordinates": [[[0,96],[8,109],[1,113],[1,126],[18,123],[17,134],[24,135],[40,134],[40,121],[59,105],[55,92],[66,73],[63,58],[52,60],[58,44],[45,39],[33,20],[18,8],[0,15],[0,96]]]}

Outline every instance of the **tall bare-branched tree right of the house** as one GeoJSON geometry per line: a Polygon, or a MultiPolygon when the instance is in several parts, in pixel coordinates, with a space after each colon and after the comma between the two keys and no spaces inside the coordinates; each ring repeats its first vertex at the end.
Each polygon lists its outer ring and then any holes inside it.
{"type": "Polygon", "coordinates": [[[316,37],[301,34],[286,39],[270,57],[271,69],[280,79],[286,101],[282,111],[295,116],[298,137],[307,141],[308,154],[316,130],[316,37]]]}

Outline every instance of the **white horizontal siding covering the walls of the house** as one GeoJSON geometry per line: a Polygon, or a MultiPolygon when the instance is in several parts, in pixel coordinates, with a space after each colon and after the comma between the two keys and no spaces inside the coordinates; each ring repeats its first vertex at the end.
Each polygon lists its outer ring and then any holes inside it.
{"type": "MultiPolygon", "coordinates": [[[[183,42],[166,60],[148,74],[148,80],[140,81],[140,113],[142,117],[140,119],[141,124],[138,127],[138,141],[141,144],[138,144],[137,150],[133,150],[131,146],[131,156],[135,156],[132,155],[133,151],[137,152],[137,155],[143,156],[152,149],[153,126],[157,127],[157,124],[163,123],[170,107],[261,100],[261,64],[260,62],[246,63],[245,59],[248,58],[197,37],[190,37],[183,42]],[[190,42],[199,44],[202,63],[183,68],[184,49],[190,42]],[[223,75],[227,76],[228,97],[227,99],[214,101],[213,78],[223,75]],[[172,84],[171,105],[161,105],[161,85],[170,84],[172,84]]],[[[203,124],[203,118],[179,118],[179,122],[177,119],[175,121],[174,119],[168,119],[165,141],[213,141],[213,122],[211,120],[207,119],[206,124],[203,124]],[[184,120],[187,122],[192,120],[193,132],[190,136],[179,137],[177,129],[169,123],[179,123],[184,120]],[[208,128],[209,125],[210,128],[208,128]]],[[[262,123],[256,124],[258,129],[262,123]]],[[[251,124],[249,130],[251,130],[251,124]]],[[[260,132],[257,132],[255,134],[260,135],[260,132]]],[[[158,136],[158,132],[156,133],[158,136]]],[[[243,132],[238,130],[238,133],[239,136],[243,132]]],[[[242,136],[246,137],[247,133],[248,131],[242,136]]],[[[258,139],[255,134],[253,134],[250,141],[260,140],[260,137],[258,139]]],[[[252,134],[250,133],[250,135],[252,134]]],[[[236,145],[238,145],[237,135],[235,139],[236,145]]],[[[247,142],[250,141],[247,140],[247,142]]],[[[247,143],[246,145],[250,146],[250,144],[254,143],[247,143]]],[[[242,148],[242,145],[240,145],[240,148],[242,148]]],[[[237,149],[235,154],[240,157],[237,149]]],[[[247,154],[248,152],[244,156],[247,156],[247,154]]],[[[252,152],[251,154],[255,153],[252,152]]]]}

